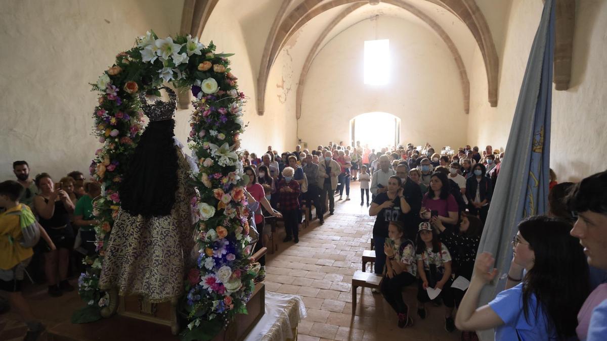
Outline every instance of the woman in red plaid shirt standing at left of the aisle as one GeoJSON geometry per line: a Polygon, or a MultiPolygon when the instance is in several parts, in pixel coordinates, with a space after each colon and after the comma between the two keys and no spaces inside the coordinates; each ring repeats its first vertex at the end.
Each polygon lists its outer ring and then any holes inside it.
{"type": "Polygon", "coordinates": [[[293,180],[295,170],[286,167],[282,170],[282,180],[278,183],[277,191],[280,192],[280,211],[285,220],[285,232],[287,237],[283,242],[291,241],[299,243],[299,229],[297,229],[297,217],[299,212],[299,183],[293,180]]]}

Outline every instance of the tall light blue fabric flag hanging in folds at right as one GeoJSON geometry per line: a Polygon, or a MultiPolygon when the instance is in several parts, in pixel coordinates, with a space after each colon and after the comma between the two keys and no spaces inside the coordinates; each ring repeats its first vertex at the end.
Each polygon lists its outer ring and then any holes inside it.
{"type": "MultiPolygon", "coordinates": [[[[512,262],[510,242],[517,233],[518,223],[523,218],[541,215],[547,210],[554,8],[554,0],[546,0],[527,61],[506,154],[500,166],[500,176],[478,248],[479,254],[484,251],[493,254],[496,259],[495,267],[500,270],[500,275],[507,273],[512,262]]],[[[486,304],[502,291],[506,279],[494,282],[484,288],[480,305],[486,304]]]]}

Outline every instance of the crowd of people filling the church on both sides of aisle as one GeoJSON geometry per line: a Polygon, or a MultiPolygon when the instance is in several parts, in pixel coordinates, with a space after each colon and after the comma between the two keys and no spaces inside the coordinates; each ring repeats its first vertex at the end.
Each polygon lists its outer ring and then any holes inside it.
{"type": "MultiPolygon", "coordinates": [[[[481,154],[476,146],[435,150],[407,144],[376,151],[356,142],[314,150],[296,146],[282,154],[268,146],[260,157],[247,150],[240,156],[251,223],[261,236],[256,249],[268,243],[267,220],[282,218],[283,242],[298,243],[302,220],[314,220],[314,212],[324,224],[335,201],[354,197],[350,184],[359,181],[360,205],[376,217],[374,270],[383,277],[378,292],[398,314],[399,327],[413,325],[402,289],[416,284],[416,315],[426,318],[426,303],[443,304],[446,331],[458,326],[463,340],[489,328],[496,329],[497,340],[605,339],[607,172],[558,184],[551,170],[549,215],[521,221],[506,289],[477,309],[481,289],[497,275],[492,256],[476,254],[503,150],[487,146],[481,154]],[[451,287],[459,277],[470,283],[467,290],[451,287]]],[[[95,252],[93,198],[101,187],[77,171],[57,182],[47,173],[32,178],[25,161],[15,161],[13,172],[16,181],[0,183],[0,289],[9,292],[35,335],[42,326],[20,294],[25,269],[43,269],[53,297],[73,291],[67,279],[70,264],[78,263],[74,255],[95,252]],[[30,216],[41,226],[35,246],[19,242],[25,239],[20,221],[30,216]]],[[[260,263],[263,280],[265,257],[260,263]]]]}

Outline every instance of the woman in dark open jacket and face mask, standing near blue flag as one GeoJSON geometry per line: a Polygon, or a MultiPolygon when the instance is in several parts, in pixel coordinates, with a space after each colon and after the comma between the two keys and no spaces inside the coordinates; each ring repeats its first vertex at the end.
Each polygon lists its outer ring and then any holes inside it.
{"type": "Polygon", "coordinates": [[[487,221],[489,204],[493,195],[491,180],[485,177],[485,166],[477,163],[472,167],[473,176],[466,180],[466,197],[470,215],[481,218],[483,224],[487,221]]]}

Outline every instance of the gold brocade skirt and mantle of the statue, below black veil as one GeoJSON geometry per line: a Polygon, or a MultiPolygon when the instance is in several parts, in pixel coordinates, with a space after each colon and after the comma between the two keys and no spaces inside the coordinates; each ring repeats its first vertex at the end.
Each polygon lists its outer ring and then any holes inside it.
{"type": "MultiPolygon", "coordinates": [[[[178,154],[178,186],[171,215],[144,218],[120,211],[114,222],[101,271],[100,288],[120,295],[139,294],[165,302],[183,294],[186,271],[195,265],[189,167],[178,154]]],[[[159,162],[162,162],[159,160],[159,162]]]]}

